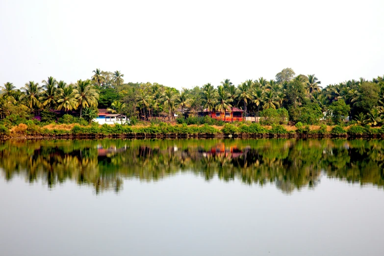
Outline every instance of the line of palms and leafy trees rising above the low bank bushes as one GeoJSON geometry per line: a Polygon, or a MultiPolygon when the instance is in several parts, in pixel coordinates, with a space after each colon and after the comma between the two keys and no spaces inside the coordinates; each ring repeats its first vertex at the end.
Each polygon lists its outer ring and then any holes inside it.
{"type": "Polygon", "coordinates": [[[125,83],[123,77],[120,71],[96,69],[90,79],[70,84],[48,77],[42,86],[29,81],[19,90],[7,82],[1,88],[0,118],[58,109],[75,111],[90,120],[96,116],[97,108],[107,108],[131,118],[167,117],[171,121],[178,112],[193,116],[203,109],[231,112],[238,107],[245,111],[244,115],[255,117],[284,108],[293,124],[339,124],[349,117],[358,124],[378,126],[384,119],[384,76],[352,79],[323,88],[314,74],[296,76],[286,68],[275,79],[248,79],[237,86],[225,79],[216,88],[206,83],[182,90],[150,82],[125,83]]]}

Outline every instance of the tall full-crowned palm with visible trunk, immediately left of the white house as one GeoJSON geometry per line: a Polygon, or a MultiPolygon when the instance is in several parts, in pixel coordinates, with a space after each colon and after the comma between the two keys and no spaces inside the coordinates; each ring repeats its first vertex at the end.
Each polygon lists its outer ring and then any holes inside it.
{"type": "Polygon", "coordinates": [[[75,88],[77,90],[77,106],[80,106],[80,118],[83,107],[97,106],[99,100],[99,92],[92,88],[91,80],[78,80],[75,88]]]}

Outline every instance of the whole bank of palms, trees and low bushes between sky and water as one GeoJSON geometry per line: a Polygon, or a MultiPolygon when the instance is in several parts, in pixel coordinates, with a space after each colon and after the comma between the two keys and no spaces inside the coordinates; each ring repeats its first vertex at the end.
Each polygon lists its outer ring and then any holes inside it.
{"type": "Polygon", "coordinates": [[[225,79],[182,90],[126,83],[123,77],[120,71],[96,69],[90,79],[70,84],[48,77],[42,86],[29,81],[17,89],[6,82],[0,136],[384,137],[384,76],[323,88],[314,74],[286,68],[275,79],[248,79],[237,86],[225,79]],[[106,121],[102,113],[129,121],[100,125],[106,121]]]}

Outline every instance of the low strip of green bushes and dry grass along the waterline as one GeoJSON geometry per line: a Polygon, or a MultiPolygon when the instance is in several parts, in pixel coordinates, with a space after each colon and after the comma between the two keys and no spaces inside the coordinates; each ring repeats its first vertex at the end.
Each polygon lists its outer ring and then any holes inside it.
{"type": "Polygon", "coordinates": [[[227,123],[224,126],[205,125],[170,125],[167,123],[152,124],[148,126],[128,125],[96,125],[81,126],[78,124],[70,126],[52,125],[40,127],[35,124],[19,124],[11,129],[0,125],[0,136],[2,138],[12,137],[384,137],[384,127],[371,128],[369,126],[353,125],[342,126],[307,126],[301,122],[295,127],[284,125],[261,126],[259,124],[227,123]]]}

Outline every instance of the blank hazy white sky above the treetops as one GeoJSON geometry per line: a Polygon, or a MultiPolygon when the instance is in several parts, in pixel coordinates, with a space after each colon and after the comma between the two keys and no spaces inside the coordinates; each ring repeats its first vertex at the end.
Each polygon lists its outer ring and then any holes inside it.
{"type": "Polygon", "coordinates": [[[176,88],[384,75],[384,0],[0,0],[0,83],[120,70],[176,88]]]}

